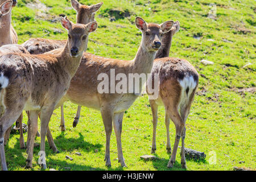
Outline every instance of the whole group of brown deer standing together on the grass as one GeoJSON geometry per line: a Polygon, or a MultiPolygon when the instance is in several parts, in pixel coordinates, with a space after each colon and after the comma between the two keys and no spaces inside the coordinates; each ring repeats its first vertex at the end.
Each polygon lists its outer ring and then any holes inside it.
{"type": "MultiPolygon", "coordinates": [[[[195,96],[199,76],[196,69],[184,59],[169,57],[172,37],[180,29],[178,21],[168,20],[162,24],[147,23],[135,18],[135,26],[142,32],[142,41],[133,60],[117,60],[87,53],[88,36],[98,25],[95,13],[102,3],[86,6],[71,0],[76,10],[76,23],[67,17],[60,17],[61,25],[68,31],[67,40],[33,38],[23,44],[11,26],[11,10],[16,0],[0,0],[0,157],[2,170],[7,170],[5,145],[9,139],[14,122],[22,126],[23,110],[28,115],[27,168],[32,168],[32,158],[36,135],[40,135],[40,151],[45,151],[45,139],[53,152],[59,152],[51,131],[49,121],[53,110],[61,107],[61,131],[65,131],[65,101],[79,105],[73,127],[80,119],[81,106],[100,110],[106,133],[105,164],[110,162],[110,136],[114,127],[117,139],[118,162],[126,167],[123,158],[121,134],[125,110],[129,109],[139,97],[137,93],[99,93],[98,75],[121,73],[128,76],[148,74],[154,80],[159,75],[157,98],[150,98],[152,110],[152,148],[156,151],[156,126],[158,106],[166,111],[165,124],[168,154],[171,159],[168,168],[174,167],[177,148],[181,138],[181,167],[187,168],[184,153],[185,121],[195,96]],[[40,131],[38,131],[38,117],[40,131]],[[176,128],[175,143],[171,151],[170,119],[176,128]],[[40,133],[40,134],[39,134],[40,133]]],[[[148,79],[149,80],[149,79],[148,79]]],[[[140,80],[139,89],[148,81],[140,80]]],[[[22,129],[20,129],[20,148],[25,148],[22,129]]],[[[39,163],[46,169],[45,156],[39,163]]]]}

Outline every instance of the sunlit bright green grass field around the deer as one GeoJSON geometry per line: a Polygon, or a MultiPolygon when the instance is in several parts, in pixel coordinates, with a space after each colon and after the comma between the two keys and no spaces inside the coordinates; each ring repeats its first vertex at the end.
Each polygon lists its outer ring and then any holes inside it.
{"type": "MultiPolygon", "coordinates": [[[[30,38],[66,39],[59,14],[73,22],[76,11],[69,0],[19,0],[13,9],[13,26],[19,43],[30,38]],[[36,9],[37,7],[40,9],[36,9]],[[40,6],[39,6],[40,5],[40,6]]],[[[99,1],[80,0],[92,5],[99,1]]],[[[175,34],[170,55],[187,59],[200,74],[199,88],[187,120],[185,147],[205,152],[203,162],[187,160],[187,170],[233,170],[234,166],[256,168],[255,127],[255,13],[256,3],[250,0],[135,0],[102,1],[96,20],[99,27],[89,36],[87,52],[95,55],[131,60],[141,42],[141,33],[135,27],[135,16],[147,22],[162,23],[179,20],[181,29],[175,34]],[[217,7],[215,19],[208,18],[210,3],[217,7]],[[110,22],[109,18],[115,17],[110,22]],[[213,61],[203,65],[202,59],[213,61]],[[251,65],[245,66],[247,63],[251,65]],[[216,163],[210,159],[216,154],[216,163]]],[[[77,106],[64,105],[67,131],[61,132],[60,109],[56,109],[49,123],[59,149],[53,154],[46,144],[47,167],[57,170],[183,170],[180,148],[173,169],[167,168],[170,155],[166,153],[164,108],[159,110],[156,133],[156,154],[159,160],[144,162],[141,155],[150,155],[152,115],[146,95],[139,97],[124,115],[122,148],[127,168],[121,168],[117,159],[114,132],[110,143],[112,167],[105,167],[105,130],[99,111],[82,107],[80,123],[72,127],[77,106]],[[80,152],[81,156],[76,155],[80,152]],[[71,156],[73,160],[65,159],[71,156]]],[[[24,122],[27,118],[24,115],[24,122]]],[[[171,146],[175,128],[170,126],[171,146]]],[[[27,133],[25,134],[25,138],[27,133]]],[[[40,143],[40,138],[36,138],[40,143]]],[[[181,144],[181,142],[180,142],[181,144]]],[[[40,170],[37,163],[40,148],[34,150],[32,170],[40,170]]],[[[6,146],[9,170],[26,170],[27,154],[19,149],[19,135],[11,135],[6,146]]],[[[31,170],[31,169],[30,169],[31,170]]]]}

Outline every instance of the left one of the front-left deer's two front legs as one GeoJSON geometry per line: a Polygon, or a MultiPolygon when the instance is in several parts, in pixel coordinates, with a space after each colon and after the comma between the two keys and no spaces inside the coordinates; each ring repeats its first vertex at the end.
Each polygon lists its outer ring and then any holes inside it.
{"type": "Polygon", "coordinates": [[[30,136],[30,144],[28,148],[28,156],[27,156],[27,165],[26,168],[32,168],[32,159],[33,159],[33,151],[34,151],[34,143],[36,132],[38,131],[38,111],[30,111],[30,123],[31,123],[31,136],[30,136]]]}

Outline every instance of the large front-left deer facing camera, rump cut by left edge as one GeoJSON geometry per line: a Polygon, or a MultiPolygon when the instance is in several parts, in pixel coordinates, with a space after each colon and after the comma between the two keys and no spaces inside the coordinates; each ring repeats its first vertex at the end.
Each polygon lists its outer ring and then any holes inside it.
{"type": "MultiPolygon", "coordinates": [[[[40,151],[45,154],[45,138],[48,123],[55,106],[67,92],[71,79],[79,67],[82,53],[87,48],[88,35],[97,29],[96,22],[74,24],[67,17],[60,18],[68,30],[64,48],[54,55],[29,55],[11,53],[0,55],[0,157],[1,168],[7,170],[4,135],[23,110],[30,113],[31,139],[27,168],[32,167],[35,135],[40,113],[40,151]]],[[[46,169],[45,155],[40,165],[46,169]]]]}

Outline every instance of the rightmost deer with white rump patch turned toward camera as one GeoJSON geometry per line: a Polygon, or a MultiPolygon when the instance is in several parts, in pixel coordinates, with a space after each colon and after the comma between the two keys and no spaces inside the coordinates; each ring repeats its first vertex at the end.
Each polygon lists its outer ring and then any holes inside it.
{"type": "MultiPolygon", "coordinates": [[[[163,45],[156,53],[156,59],[151,70],[151,77],[159,74],[159,97],[150,100],[152,110],[153,137],[151,153],[156,150],[156,126],[158,123],[158,106],[164,106],[166,110],[165,124],[167,132],[167,153],[171,153],[170,144],[170,118],[176,127],[175,143],[172,150],[168,167],[172,168],[176,159],[177,147],[181,138],[181,167],[187,168],[184,154],[185,122],[195,97],[199,75],[196,69],[184,59],[168,57],[171,47],[172,36],[179,31],[179,22],[175,22],[174,30],[163,36],[163,45]]],[[[147,89],[148,90],[148,89],[147,89]]]]}

